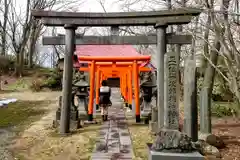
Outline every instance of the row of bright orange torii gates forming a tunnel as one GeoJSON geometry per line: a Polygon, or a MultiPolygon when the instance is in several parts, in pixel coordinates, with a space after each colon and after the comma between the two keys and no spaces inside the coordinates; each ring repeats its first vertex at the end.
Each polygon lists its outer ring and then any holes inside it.
{"type": "Polygon", "coordinates": [[[90,71],[90,97],[88,105],[88,120],[93,120],[94,88],[96,88],[96,104],[99,103],[100,83],[103,79],[119,77],[121,93],[128,104],[132,104],[132,80],[134,83],[136,122],[140,122],[139,104],[139,72],[148,72],[151,69],[141,66],[143,62],[149,62],[150,56],[134,57],[97,57],[80,56],[79,61],[89,63],[87,68],[80,68],[80,71],[90,71]],[[96,76],[95,76],[95,73],[96,76]],[[133,77],[133,79],[132,79],[133,77]],[[96,86],[95,86],[96,83],[96,86]]]}

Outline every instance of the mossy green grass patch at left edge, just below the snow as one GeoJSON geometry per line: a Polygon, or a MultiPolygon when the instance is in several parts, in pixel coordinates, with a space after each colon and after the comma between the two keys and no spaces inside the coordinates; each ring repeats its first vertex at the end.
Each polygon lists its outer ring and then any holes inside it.
{"type": "Polygon", "coordinates": [[[40,106],[48,101],[17,101],[0,108],[0,128],[21,125],[45,113],[40,106]]]}

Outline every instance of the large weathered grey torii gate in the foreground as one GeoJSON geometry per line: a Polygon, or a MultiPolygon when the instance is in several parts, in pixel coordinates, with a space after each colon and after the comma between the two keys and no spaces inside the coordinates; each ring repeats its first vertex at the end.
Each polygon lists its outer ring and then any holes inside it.
{"type": "MultiPolygon", "coordinates": [[[[139,41],[151,42],[149,37],[139,39],[132,36],[128,40],[118,36],[119,26],[154,26],[156,28],[156,36],[153,37],[154,44],[157,44],[157,106],[158,106],[158,128],[164,125],[164,54],[166,53],[166,45],[168,43],[166,28],[168,25],[187,24],[193,16],[198,16],[201,9],[197,8],[178,8],[174,10],[161,11],[145,11],[145,12],[116,12],[116,13],[78,13],[78,12],[55,12],[33,10],[32,16],[40,19],[45,26],[61,26],[66,30],[65,36],[65,61],[64,61],[64,82],[63,82],[63,99],[60,120],[60,133],[66,134],[69,132],[70,126],[70,105],[72,92],[72,56],[75,51],[75,30],[79,26],[102,27],[110,26],[115,28],[114,36],[100,38],[95,40],[100,44],[132,44],[139,41]],[[136,40],[139,41],[136,42],[136,40]],[[133,41],[132,41],[133,40],[133,41]]],[[[95,37],[97,38],[97,37],[95,37]]],[[[86,39],[85,39],[86,40],[86,39]]],[[[82,44],[84,42],[82,41],[82,44]]],[[[91,43],[91,42],[89,42],[91,43]]],[[[153,43],[153,42],[151,42],[153,43]]],[[[185,43],[184,43],[185,44],[185,43]]],[[[189,43],[187,43],[189,44],[189,43]]],[[[137,96],[137,95],[135,95],[137,96]]]]}

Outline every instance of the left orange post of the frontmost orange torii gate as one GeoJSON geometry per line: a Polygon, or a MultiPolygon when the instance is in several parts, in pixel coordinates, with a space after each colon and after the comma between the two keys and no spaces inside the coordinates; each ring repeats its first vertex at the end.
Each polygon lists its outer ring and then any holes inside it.
{"type": "Polygon", "coordinates": [[[93,120],[93,102],[94,102],[94,85],[95,85],[95,61],[92,61],[90,72],[90,96],[88,103],[88,121],[93,120]]]}

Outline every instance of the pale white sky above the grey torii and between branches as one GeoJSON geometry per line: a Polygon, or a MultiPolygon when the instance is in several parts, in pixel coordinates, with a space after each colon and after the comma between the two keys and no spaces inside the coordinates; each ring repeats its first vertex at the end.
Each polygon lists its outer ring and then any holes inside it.
{"type": "MultiPolygon", "coordinates": [[[[19,11],[24,11],[24,7],[26,6],[27,0],[16,0],[16,4],[19,6],[19,11]]],[[[73,1],[73,0],[72,0],[73,1]]],[[[130,10],[134,11],[149,11],[149,10],[161,10],[166,9],[166,3],[162,1],[163,3],[157,4],[150,4],[147,3],[147,0],[78,0],[78,3],[74,3],[70,5],[71,11],[77,11],[77,12],[104,12],[103,7],[100,4],[100,1],[104,3],[104,8],[107,12],[121,12],[121,11],[127,11],[127,8],[123,6],[123,4],[126,4],[126,2],[133,2],[138,1],[138,3],[135,3],[135,5],[131,5],[130,10]],[[147,4],[147,5],[146,5],[147,4]]],[[[61,5],[62,6],[62,5],[61,5]]],[[[59,8],[59,6],[56,6],[59,8]]],[[[66,9],[66,7],[61,7],[62,11],[69,11],[69,9],[66,9]]],[[[60,11],[58,10],[58,11],[60,11]]],[[[20,13],[20,12],[19,12],[20,13]]],[[[96,29],[96,28],[94,28],[96,29]]],[[[87,32],[87,34],[93,34],[93,30],[90,30],[87,32]]],[[[44,33],[45,36],[51,36],[52,29],[51,27],[48,27],[47,31],[44,33]]],[[[63,27],[57,28],[57,32],[64,34],[65,30],[63,27]]],[[[40,46],[38,48],[42,53],[49,53],[51,55],[53,53],[52,46],[42,46],[40,41],[40,46]]],[[[153,56],[154,57],[154,56],[153,56]]],[[[46,61],[45,65],[49,66],[50,63],[50,56],[49,60],[46,61]]]]}

